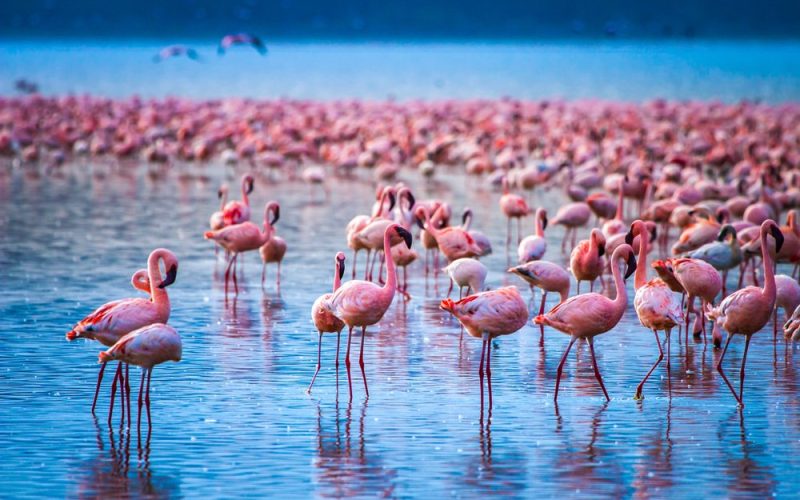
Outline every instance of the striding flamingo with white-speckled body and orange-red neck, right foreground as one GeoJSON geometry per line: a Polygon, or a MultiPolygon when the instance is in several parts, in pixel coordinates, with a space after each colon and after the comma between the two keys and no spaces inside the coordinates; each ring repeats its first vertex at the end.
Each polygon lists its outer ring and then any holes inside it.
{"type": "MultiPolygon", "coordinates": [[[[643,327],[653,331],[658,346],[658,359],[653,364],[650,371],[644,376],[636,387],[634,399],[644,399],[642,389],[647,379],[664,359],[664,351],[661,349],[661,341],[658,338],[658,331],[663,330],[667,339],[667,377],[669,377],[670,367],[670,334],[672,329],[680,324],[683,316],[680,300],[675,296],[664,280],[654,278],[647,281],[647,252],[649,245],[649,234],[645,223],[641,220],[634,221],[628,232],[627,238],[633,242],[635,233],[639,234],[639,259],[636,267],[636,274],[633,278],[636,294],[633,299],[633,307],[639,322],[643,327]]],[[[669,379],[668,379],[669,380],[669,379]]]]}

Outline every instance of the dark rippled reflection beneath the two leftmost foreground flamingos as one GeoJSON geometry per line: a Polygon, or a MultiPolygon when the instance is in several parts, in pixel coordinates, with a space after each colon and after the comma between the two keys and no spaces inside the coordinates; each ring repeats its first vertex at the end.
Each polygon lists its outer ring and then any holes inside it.
{"type": "Polygon", "coordinates": [[[76,466],[75,490],[77,497],[170,497],[180,496],[180,482],[174,478],[154,474],[150,468],[150,432],[144,440],[135,442],[135,455],[131,455],[131,433],[128,430],[104,431],[97,419],[97,455],[76,466]],[[103,435],[108,438],[104,442],[103,435]]]}

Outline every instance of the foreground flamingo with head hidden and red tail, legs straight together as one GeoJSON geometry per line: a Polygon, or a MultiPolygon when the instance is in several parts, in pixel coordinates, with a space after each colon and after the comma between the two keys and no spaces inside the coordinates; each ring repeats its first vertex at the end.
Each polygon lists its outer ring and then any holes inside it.
{"type": "Polygon", "coordinates": [[[508,286],[497,290],[476,293],[458,302],[444,299],[440,307],[455,316],[464,329],[475,338],[483,340],[478,377],[481,382],[481,414],[483,414],[483,361],[486,359],[486,378],[489,392],[489,411],[492,410],[492,365],[490,341],[500,335],[509,335],[525,326],[528,307],[519,290],[508,286]]]}

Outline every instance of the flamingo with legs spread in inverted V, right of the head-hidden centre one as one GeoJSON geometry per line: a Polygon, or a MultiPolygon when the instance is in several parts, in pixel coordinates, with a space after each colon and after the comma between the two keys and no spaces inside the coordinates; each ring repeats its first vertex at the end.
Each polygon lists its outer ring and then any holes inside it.
{"type": "Polygon", "coordinates": [[[571,337],[569,345],[567,345],[567,349],[561,357],[561,362],[558,364],[556,391],[553,401],[558,401],[561,372],[564,370],[564,363],[567,361],[567,355],[572,349],[572,345],[579,338],[586,339],[589,342],[594,376],[600,383],[600,388],[603,389],[606,400],[611,400],[608,397],[605,385],[603,385],[603,377],[600,375],[600,370],[597,368],[597,359],[594,354],[594,337],[611,330],[622,319],[625,308],[628,306],[628,293],[625,289],[624,280],[628,279],[635,270],[636,257],[633,249],[630,245],[622,244],[614,250],[614,254],[611,256],[611,274],[614,276],[614,285],[617,291],[617,297],[614,300],[599,293],[576,295],[555,306],[546,314],[540,314],[533,319],[534,324],[552,326],[571,337]],[[625,259],[627,259],[628,266],[623,278],[620,275],[619,261],[625,259]]]}

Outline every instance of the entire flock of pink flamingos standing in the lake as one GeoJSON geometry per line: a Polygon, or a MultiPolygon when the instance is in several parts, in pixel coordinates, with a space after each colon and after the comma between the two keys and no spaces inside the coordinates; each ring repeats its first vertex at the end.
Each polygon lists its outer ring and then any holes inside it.
{"type": "MultiPolygon", "coordinates": [[[[553,329],[569,336],[554,398],[564,362],[577,341],[588,343],[597,382],[609,398],[595,360],[594,340],[613,330],[626,314],[625,283],[631,277],[633,309],[642,327],[653,332],[659,352],[649,370],[642,369],[637,399],[643,398],[648,377],[665,357],[659,334],[666,340],[668,377],[674,330],[687,345],[691,333],[696,342],[723,349],[716,368],[740,407],[753,334],[770,319],[777,333],[778,309],[783,309],[785,335],[800,339],[797,106],[514,100],[192,102],[33,96],[0,103],[0,154],[14,156],[21,165],[44,164],[50,173],[81,157],[96,162],[141,159],[156,170],[215,159],[279,171],[322,186],[326,193],[330,177],[347,182],[348,177],[369,171],[378,183],[373,209],[356,215],[344,228],[342,249],[346,243],[352,258],[346,259],[344,252],[331,255],[332,289],[311,309],[320,346],[324,334],[337,336],[337,370],[341,332],[348,329],[344,363],[351,398],[353,330],[361,330],[358,361],[368,396],[366,330],[381,321],[396,296],[410,298],[407,273],[417,260],[424,260],[425,273],[437,273],[446,265],[443,270],[451,279],[451,290],[458,288],[461,298],[444,298],[441,308],[483,342],[478,369],[481,408],[484,378],[489,408],[492,405],[489,343],[519,331],[529,321],[539,325],[542,335],[553,329]],[[404,170],[441,177],[442,171],[455,168],[478,178],[475,182],[502,189],[499,207],[473,207],[459,223],[453,220],[448,200],[419,200],[411,187],[395,180],[404,170]],[[530,200],[541,190],[563,191],[569,201],[557,210],[535,207],[530,200]],[[513,253],[516,239],[518,265],[508,272],[532,293],[540,289],[536,314],[530,314],[516,287],[486,289],[487,268],[479,259],[492,251],[492,244],[471,223],[473,211],[479,215],[490,210],[501,210],[508,218],[506,252],[513,253]],[[526,235],[520,221],[529,216],[534,231],[526,235]],[[568,269],[547,260],[558,252],[548,248],[545,239],[545,231],[554,226],[563,228],[560,250],[569,255],[568,269]],[[671,230],[677,230],[677,240],[670,236],[671,230]],[[412,248],[415,236],[424,255],[412,248]],[[362,250],[364,263],[358,262],[362,250]],[[670,258],[651,259],[654,250],[670,258]],[[343,282],[346,263],[352,279],[343,282]],[[793,275],[777,275],[778,264],[793,265],[793,275]],[[399,270],[403,279],[398,278],[399,270]],[[355,279],[357,273],[364,279],[355,279]],[[730,287],[729,273],[735,287],[730,287]],[[609,283],[603,279],[608,274],[609,283]],[[581,290],[582,284],[588,292],[581,290]],[[549,310],[548,294],[558,296],[549,310]],[[709,320],[713,325],[707,325],[709,320]],[[736,335],[745,343],[738,390],[723,369],[736,335]]],[[[233,293],[238,293],[236,265],[242,253],[259,251],[266,265],[280,264],[287,250],[286,242],[276,235],[278,203],[266,204],[261,224],[251,221],[256,218],[248,199],[253,188],[251,175],[241,180],[240,199],[228,200],[227,187],[221,188],[220,209],[211,215],[204,234],[227,259],[226,296],[229,281],[233,293]]],[[[199,237],[201,229],[197,232],[199,237]]],[[[178,259],[172,252],[154,250],[147,268],[132,278],[133,286],[149,298],[109,302],[67,333],[69,340],[93,339],[108,347],[99,355],[93,412],[106,364],[119,362],[109,421],[119,386],[123,415],[130,423],[129,365],[143,369],[140,425],[143,404],[149,422],[153,367],[181,359],[181,338],[167,324],[167,288],[176,281],[177,271],[178,259]]],[[[318,356],[309,391],[320,371],[321,347],[318,356]]]]}

